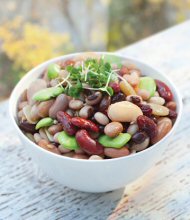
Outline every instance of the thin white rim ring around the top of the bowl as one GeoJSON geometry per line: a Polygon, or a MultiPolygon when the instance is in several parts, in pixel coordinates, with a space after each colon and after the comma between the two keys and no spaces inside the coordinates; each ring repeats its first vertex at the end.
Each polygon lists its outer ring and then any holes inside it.
{"type": "MultiPolygon", "coordinates": [[[[18,97],[19,98],[19,97],[18,97]]],[[[18,98],[16,100],[16,102],[18,102],[18,98]]],[[[68,161],[71,161],[71,162],[80,162],[80,163],[96,163],[98,161],[98,163],[111,163],[111,162],[118,162],[118,161],[121,161],[121,160],[127,160],[127,159],[132,159],[132,158],[135,158],[135,157],[141,157],[143,156],[143,154],[145,153],[148,153],[149,151],[152,151],[153,149],[155,148],[158,148],[160,144],[162,144],[167,138],[171,137],[171,134],[176,130],[179,122],[180,122],[180,119],[181,119],[181,115],[182,115],[182,98],[179,94],[179,91],[177,89],[177,87],[175,86],[175,84],[165,75],[163,74],[162,72],[158,71],[155,67],[151,66],[150,64],[147,64],[146,62],[144,61],[141,61],[137,58],[134,58],[132,56],[125,56],[125,55],[122,55],[120,54],[119,52],[115,52],[115,53],[112,53],[112,52],[96,52],[96,51],[90,51],[90,52],[78,52],[78,53],[71,53],[71,54],[67,54],[67,55],[62,55],[62,56],[58,56],[58,57],[55,57],[55,58],[52,58],[52,59],[49,59],[39,65],[37,65],[36,67],[32,68],[30,71],[28,71],[24,77],[22,77],[22,79],[17,83],[17,85],[14,87],[11,95],[10,95],[10,99],[9,99],[9,116],[11,118],[11,121],[14,125],[14,128],[16,129],[17,133],[23,137],[23,139],[28,142],[29,144],[31,144],[33,147],[37,148],[39,151],[42,151],[43,153],[45,154],[49,154],[49,156],[51,157],[54,157],[54,158],[58,158],[58,159],[63,159],[63,160],[68,160],[68,161]],[[128,156],[123,156],[123,157],[118,157],[118,158],[111,158],[111,159],[103,159],[103,160],[85,160],[85,159],[78,159],[78,158],[72,158],[72,157],[66,157],[66,156],[63,156],[63,155],[58,155],[58,154],[55,154],[55,153],[52,153],[48,150],[45,150],[41,147],[39,147],[36,143],[34,143],[33,141],[31,141],[22,131],[21,129],[19,128],[19,126],[17,125],[16,123],[16,120],[14,118],[14,114],[13,114],[13,109],[12,109],[12,102],[14,101],[14,98],[15,98],[15,93],[16,93],[16,90],[18,88],[18,86],[22,83],[22,81],[28,77],[28,75],[32,75],[33,72],[35,72],[37,69],[47,65],[48,63],[51,63],[51,62],[56,62],[58,60],[65,60],[65,59],[68,59],[68,58],[71,58],[71,57],[76,57],[76,56],[80,56],[80,55],[85,55],[85,54],[88,54],[88,53],[93,53],[93,54],[98,54],[98,55],[103,55],[103,54],[107,54],[107,55],[113,55],[113,56],[117,56],[117,57],[121,57],[123,59],[128,59],[130,60],[131,62],[135,62],[135,63],[138,63],[139,65],[142,65],[142,66],[147,66],[148,68],[152,68],[153,70],[155,70],[156,74],[160,74],[163,76],[164,79],[166,79],[167,81],[170,82],[170,84],[172,85],[173,87],[173,90],[175,90],[175,93],[176,93],[176,100],[178,101],[178,116],[177,116],[177,119],[172,127],[172,129],[169,131],[169,133],[164,136],[164,138],[162,138],[160,141],[158,141],[156,144],[153,144],[151,147],[149,148],[146,148],[145,150],[143,151],[140,151],[140,152],[137,152],[135,154],[130,154],[128,156]]]]}

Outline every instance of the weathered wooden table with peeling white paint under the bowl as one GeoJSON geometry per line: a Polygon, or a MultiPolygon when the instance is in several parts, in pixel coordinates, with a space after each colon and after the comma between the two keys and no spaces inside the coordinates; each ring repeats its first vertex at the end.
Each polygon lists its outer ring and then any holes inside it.
{"type": "Polygon", "coordinates": [[[182,121],[162,160],[123,189],[103,194],[74,191],[37,172],[9,122],[4,102],[0,105],[1,220],[190,219],[190,21],[119,52],[165,72],[183,95],[182,121]]]}

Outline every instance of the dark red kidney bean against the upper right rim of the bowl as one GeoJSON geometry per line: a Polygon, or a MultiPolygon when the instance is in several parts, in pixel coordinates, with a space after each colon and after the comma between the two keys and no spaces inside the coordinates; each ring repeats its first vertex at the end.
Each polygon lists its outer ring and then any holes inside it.
{"type": "Polygon", "coordinates": [[[156,86],[159,95],[164,98],[167,102],[172,101],[173,99],[173,94],[170,88],[162,81],[160,80],[155,80],[156,81],[156,86]]]}

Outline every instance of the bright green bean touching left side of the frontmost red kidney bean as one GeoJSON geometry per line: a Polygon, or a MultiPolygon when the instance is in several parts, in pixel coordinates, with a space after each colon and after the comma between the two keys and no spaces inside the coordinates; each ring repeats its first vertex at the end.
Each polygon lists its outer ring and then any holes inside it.
{"type": "Polygon", "coordinates": [[[69,150],[77,150],[79,149],[79,145],[74,136],[68,135],[65,131],[62,131],[58,134],[57,139],[59,143],[69,150]]]}

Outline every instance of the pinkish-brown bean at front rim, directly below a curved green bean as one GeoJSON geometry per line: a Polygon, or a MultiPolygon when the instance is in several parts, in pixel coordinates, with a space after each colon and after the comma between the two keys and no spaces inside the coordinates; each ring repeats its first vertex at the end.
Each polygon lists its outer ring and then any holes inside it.
{"type": "Polygon", "coordinates": [[[130,152],[127,147],[122,147],[120,149],[104,148],[104,154],[107,157],[118,158],[118,157],[128,156],[130,154],[130,152]]]}

